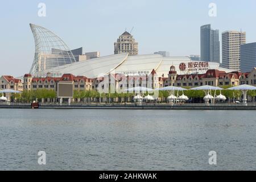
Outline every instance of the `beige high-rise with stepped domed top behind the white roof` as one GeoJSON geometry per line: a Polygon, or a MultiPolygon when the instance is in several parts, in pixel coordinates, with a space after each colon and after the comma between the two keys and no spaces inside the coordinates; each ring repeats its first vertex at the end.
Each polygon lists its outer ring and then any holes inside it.
{"type": "Polygon", "coordinates": [[[114,43],[115,54],[128,52],[129,55],[138,55],[138,42],[135,42],[133,35],[125,31],[114,43]]]}

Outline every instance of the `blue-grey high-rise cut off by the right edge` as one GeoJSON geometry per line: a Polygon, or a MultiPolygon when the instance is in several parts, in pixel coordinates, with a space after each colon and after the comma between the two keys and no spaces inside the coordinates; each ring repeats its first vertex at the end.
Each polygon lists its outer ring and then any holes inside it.
{"type": "Polygon", "coordinates": [[[250,72],[256,67],[256,42],[241,45],[241,72],[250,72]]]}

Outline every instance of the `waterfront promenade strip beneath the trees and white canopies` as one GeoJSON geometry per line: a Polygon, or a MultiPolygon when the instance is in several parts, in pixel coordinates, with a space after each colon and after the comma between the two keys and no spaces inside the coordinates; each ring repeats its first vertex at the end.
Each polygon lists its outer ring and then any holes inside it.
{"type": "MultiPolygon", "coordinates": [[[[31,109],[30,104],[1,105],[0,109],[31,109]]],[[[39,109],[146,109],[146,110],[256,110],[255,103],[241,104],[40,104],[39,109]]]]}

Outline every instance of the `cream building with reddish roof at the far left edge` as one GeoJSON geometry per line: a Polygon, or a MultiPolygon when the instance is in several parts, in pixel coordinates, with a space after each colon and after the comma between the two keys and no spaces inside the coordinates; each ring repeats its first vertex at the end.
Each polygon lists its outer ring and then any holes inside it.
{"type": "Polygon", "coordinates": [[[11,89],[16,91],[23,91],[22,80],[16,79],[13,76],[1,76],[0,77],[0,90],[11,89]]]}

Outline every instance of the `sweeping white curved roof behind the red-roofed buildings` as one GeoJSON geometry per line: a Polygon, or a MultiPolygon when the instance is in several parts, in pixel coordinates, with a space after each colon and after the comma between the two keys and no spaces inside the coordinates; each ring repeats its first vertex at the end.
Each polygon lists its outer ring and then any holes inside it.
{"type": "MultiPolygon", "coordinates": [[[[128,56],[128,53],[99,57],[80,61],[77,63],[62,65],[49,70],[51,73],[72,73],[75,76],[86,76],[96,78],[104,76],[110,72],[124,73],[125,75],[137,75],[138,73],[150,74],[155,69],[159,76],[168,75],[171,65],[174,65],[178,75],[191,74],[191,72],[181,72],[179,64],[188,64],[191,61],[189,57],[162,57],[162,55],[134,55],[128,56]]],[[[230,72],[229,69],[220,68],[218,63],[209,62],[209,69],[218,69],[220,71],[230,72]]],[[[201,71],[199,73],[205,73],[201,71]]]]}

